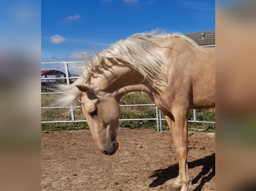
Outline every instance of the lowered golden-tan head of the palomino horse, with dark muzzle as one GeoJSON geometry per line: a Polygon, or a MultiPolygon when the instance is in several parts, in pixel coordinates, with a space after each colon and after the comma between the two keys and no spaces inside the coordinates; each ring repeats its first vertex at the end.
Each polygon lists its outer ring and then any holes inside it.
{"type": "Polygon", "coordinates": [[[120,107],[112,96],[96,95],[88,86],[77,85],[81,92],[82,112],[100,151],[113,155],[118,149],[120,107]]]}

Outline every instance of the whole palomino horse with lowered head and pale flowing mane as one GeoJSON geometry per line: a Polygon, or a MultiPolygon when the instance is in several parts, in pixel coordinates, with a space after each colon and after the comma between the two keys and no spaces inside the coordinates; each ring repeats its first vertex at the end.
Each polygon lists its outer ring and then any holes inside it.
{"type": "Polygon", "coordinates": [[[215,48],[201,48],[182,34],[155,32],[120,40],[91,58],[72,85],[60,85],[59,104],[82,106],[99,150],[113,155],[118,149],[120,98],[146,92],[163,111],[176,147],[179,174],[171,190],[187,191],[188,112],[215,107],[215,48]]]}

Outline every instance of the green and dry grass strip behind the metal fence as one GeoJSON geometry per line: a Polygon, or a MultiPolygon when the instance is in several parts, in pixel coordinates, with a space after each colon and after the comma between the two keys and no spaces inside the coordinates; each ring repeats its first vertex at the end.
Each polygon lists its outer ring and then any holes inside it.
{"type": "MultiPolygon", "coordinates": [[[[44,90],[46,91],[46,90],[44,90]]],[[[59,95],[41,95],[41,107],[50,107],[54,103],[56,96],[59,95]]],[[[151,104],[153,103],[149,96],[145,93],[126,94],[120,100],[120,105],[126,104],[151,104]]],[[[127,106],[121,107],[121,119],[133,118],[156,118],[155,106],[127,106]]],[[[202,121],[215,121],[215,109],[197,110],[197,119],[202,121]]],[[[74,110],[76,120],[84,120],[84,116],[80,108],[74,110]]],[[[41,109],[41,121],[66,121],[71,120],[71,114],[67,113],[67,109],[41,109]]],[[[193,110],[189,112],[189,120],[193,120],[193,110]]],[[[120,121],[120,127],[126,128],[154,128],[157,124],[155,120],[142,121],[120,121]]],[[[199,129],[208,132],[215,132],[215,124],[208,123],[189,123],[189,129],[199,129]]],[[[166,121],[163,121],[164,130],[168,129],[166,121]]],[[[67,123],[42,123],[41,130],[79,130],[89,129],[86,122],[67,122],[67,123]]]]}

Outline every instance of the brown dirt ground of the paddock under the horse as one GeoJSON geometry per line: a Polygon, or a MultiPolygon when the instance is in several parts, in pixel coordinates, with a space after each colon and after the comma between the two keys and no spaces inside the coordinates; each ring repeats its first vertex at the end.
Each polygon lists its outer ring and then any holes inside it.
{"type": "MultiPolygon", "coordinates": [[[[193,191],[215,190],[215,133],[189,132],[193,191]]],[[[102,154],[89,130],[42,131],[42,191],[168,190],[178,175],[169,131],[119,129],[119,149],[102,154]]]]}

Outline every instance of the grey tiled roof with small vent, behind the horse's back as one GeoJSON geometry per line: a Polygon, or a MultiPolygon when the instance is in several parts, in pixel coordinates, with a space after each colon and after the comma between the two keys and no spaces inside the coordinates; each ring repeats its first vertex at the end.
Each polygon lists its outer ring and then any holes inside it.
{"type": "Polygon", "coordinates": [[[198,45],[215,45],[215,30],[184,34],[198,45]]]}

